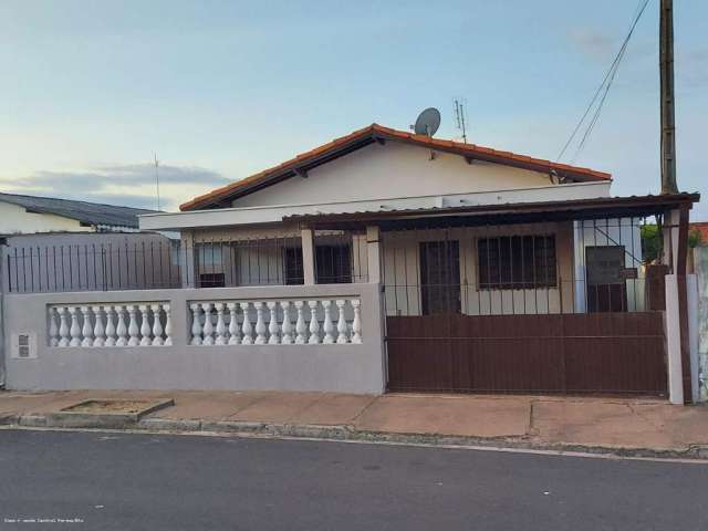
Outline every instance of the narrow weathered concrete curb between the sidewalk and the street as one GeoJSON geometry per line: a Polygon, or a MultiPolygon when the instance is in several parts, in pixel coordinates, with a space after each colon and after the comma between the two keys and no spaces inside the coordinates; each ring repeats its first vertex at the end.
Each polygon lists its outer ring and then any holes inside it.
{"type": "Polygon", "coordinates": [[[45,415],[0,415],[0,425],[8,428],[61,428],[61,429],[112,429],[118,431],[149,431],[158,434],[181,435],[222,435],[233,437],[321,439],[339,441],[358,441],[371,444],[395,444],[433,447],[476,447],[478,449],[525,450],[555,452],[561,455],[590,454],[606,457],[629,457],[648,459],[708,459],[708,445],[691,445],[685,449],[627,448],[613,446],[593,446],[566,442],[544,442],[528,437],[472,437],[440,434],[394,434],[356,429],[353,426],[302,425],[252,423],[239,420],[201,420],[146,417],[136,423],[124,423],[121,426],[106,426],[98,420],[93,424],[54,423],[45,415]],[[63,424],[63,425],[62,425],[63,424]]]}

